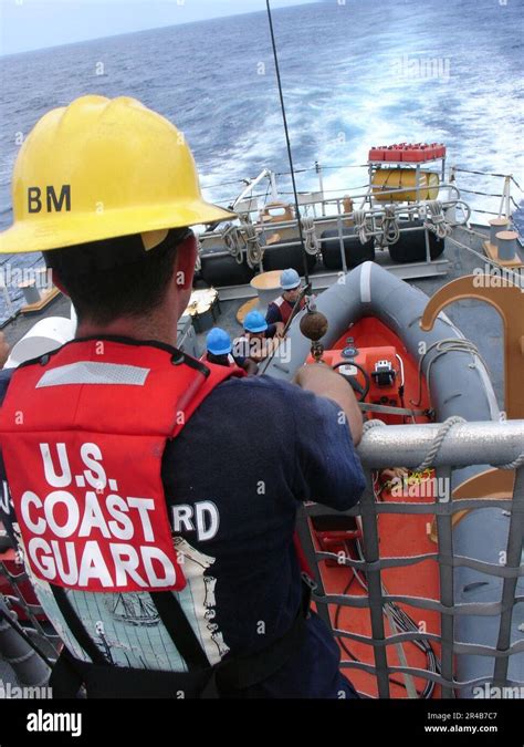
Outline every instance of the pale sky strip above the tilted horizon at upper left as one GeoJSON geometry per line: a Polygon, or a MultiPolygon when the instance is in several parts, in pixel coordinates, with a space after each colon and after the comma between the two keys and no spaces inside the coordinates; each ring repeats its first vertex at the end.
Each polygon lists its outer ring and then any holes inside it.
{"type": "MultiPolygon", "coordinates": [[[[271,0],[272,8],[314,0],[271,0]]],[[[0,0],[0,54],[265,10],[265,0],[0,0]]]]}

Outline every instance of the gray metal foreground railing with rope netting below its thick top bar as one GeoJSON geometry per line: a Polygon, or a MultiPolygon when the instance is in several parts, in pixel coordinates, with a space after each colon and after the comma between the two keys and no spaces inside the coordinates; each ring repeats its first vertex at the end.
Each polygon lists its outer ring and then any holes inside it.
{"type": "MultiPolygon", "coordinates": [[[[439,433],[439,425],[385,426],[373,428],[366,433],[358,448],[365,469],[373,470],[402,465],[417,468],[431,449],[439,433]]],[[[344,661],[343,668],[357,668],[375,675],[378,694],[381,698],[390,695],[389,677],[394,673],[431,679],[441,686],[442,697],[452,698],[464,688],[490,683],[499,687],[522,687],[524,682],[509,678],[509,664],[513,655],[524,652],[522,640],[511,643],[511,627],[514,608],[524,601],[517,596],[516,584],[524,575],[522,547],[524,540],[524,421],[504,423],[463,423],[453,426],[442,442],[432,467],[438,478],[452,479],[453,470],[471,465],[492,465],[509,468],[518,465],[516,470],[513,500],[506,499],[449,499],[437,497],[432,502],[408,504],[401,501],[377,502],[373,490],[373,480],[358,504],[346,516],[360,517],[364,536],[364,560],[345,558],[342,564],[364,572],[367,579],[366,595],[326,593],[318,564],[326,560],[340,562],[339,557],[331,552],[317,551],[313,544],[308,518],[337,513],[323,506],[306,505],[298,519],[298,533],[310,566],[315,572],[316,589],[313,601],[318,614],[333,629],[329,605],[346,608],[368,608],[370,612],[371,636],[352,633],[347,630],[334,629],[336,637],[349,639],[373,646],[375,663],[344,661]],[[484,562],[478,558],[458,556],[453,551],[452,518],[459,511],[500,508],[511,512],[505,563],[500,566],[484,562]],[[438,549],[431,554],[407,558],[380,557],[377,519],[381,513],[427,515],[434,516],[438,528],[438,549]],[[440,600],[410,595],[384,593],[381,573],[388,568],[413,567],[427,560],[439,566],[440,600]],[[454,600],[454,569],[465,567],[490,577],[502,579],[500,599],[486,603],[457,603],[454,600]],[[409,632],[386,636],[384,605],[388,602],[400,602],[419,610],[431,610],[440,614],[440,635],[429,632],[409,632]],[[455,640],[454,624],[458,615],[494,615],[499,618],[496,646],[479,645],[455,640]],[[410,666],[388,664],[387,649],[408,641],[433,641],[441,646],[441,668],[429,672],[410,666]],[[493,658],[493,673],[468,682],[455,677],[455,655],[488,656],[493,658]]],[[[370,476],[370,471],[368,471],[370,476]]],[[[522,689],[521,692],[524,692],[522,689]]]]}

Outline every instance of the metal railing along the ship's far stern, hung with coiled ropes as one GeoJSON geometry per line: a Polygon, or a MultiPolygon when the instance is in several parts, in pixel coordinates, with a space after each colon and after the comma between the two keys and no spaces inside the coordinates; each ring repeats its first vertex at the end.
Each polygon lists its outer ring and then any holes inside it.
{"type": "MultiPolygon", "coordinates": [[[[409,164],[406,164],[409,166],[409,164]]],[[[483,232],[474,230],[470,222],[471,212],[481,212],[489,217],[496,216],[502,217],[503,215],[511,220],[511,212],[513,208],[517,208],[518,205],[511,194],[512,186],[517,190],[522,191],[521,186],[514,179],[512,175],[502,175],[502,174],[491,174],[491,173],[481,173],[481,172],[469,172],[468,169],[459,168],[452,166],[450,168],[449,179],[446,180],[446,159],[439,158],[436,162],[425,162],[422,164],[415,165],[417,179],[416,184],[412,187],[401,186],[398,188],[385,187],[377,188],[377,185],[374,183],[374,168],[375,167],[388,167],[395,166],[394,162],[373,162],[370,164],[347,166],[344,168],[357,168],[357,169],[367,169],[368,181],[365,185],[358,187],[347,187],[345,189],[325,189],[323,172],[328,168],[328,166],[321,166],[316,163],[313,168],[302,168],[296,169],[296,174],[303,174],[306,172],[315,172],[318,177],[318,190],[313,191],[311,189],[311,183],[308,184],[308,191],[300,191],[297,196],[298,205],[301,206],[301,218],[302,218],[302,232],[311,235],[311,246],[306,246],[306,251],[311,255],[322,253],[324,245],[328,241],[333,241],[334,237],[322,238],[321,231],[323,229],[336,229],[339,245],[339,267],[340,272],[346,273],[348,271],[347,258],[346,258],[346,248],[345,239],[347,238],[346,228],[355,226],[353,231],[354,235],[360,238],[361,243],[367,241],[375,241],[375,246],[378,249],[388,249],[390,245],[397,242],[396,236],[400,237],[404,234],[410,231],[419,231],[423,236],[423,241],[426,245],[426,256],[418,257],[416,261],[412,262],[397,262],[392,259],[388,260],[387,252],[384,255],[380,252],[376,257],[375,261],[381,263],[387,270],[394,274],[400,277],[402,280],[412,280],[416,278],[430,278],[438,276],[446,276],[449,271],[450,264],[447,258],[437,257],[432,259],[432,250],[430,247],[430,231],[437,234],[440,238],[446,238],[447,240],[452,241],[455,246],[459,246],[461,249],[470,250],[468,246],[464,246],[461,242],[458,242],[454,237],[450,236],[451,229],[457,227],[462,227],[471,236],[475,237],[478,243],[480,241],[485,241],[486,236],[483,232]],[[421,167],[431,167],[437,162],[442,162],[442,168],[440,174],[440,184],[429,185],[420,184],[420,168],[421,167]],[[479,189],[464,189],[467,194],[479,195],[485,199],[500,199],[499,210],[490,209],[478,209],[470,207],[461,198],[462,187],[459,188],[457,184],[457,175],[461,173],[461,177],[467,177],[473,175],[474,178],[489,177],[489,178],[502,178],[503,187],[501,191],[493,191],[493,188],[485,191],[479,189]],[[423,193],[431,191],[432,189],[438,190],[439,198],[437,201],[431,204],[431,200],[422,199],[423,193]],[[396,201],[396,196],[404,194],[406,196],[408,191],[416,191],[417,200],[405,203],[396,201]],[[332,193],[335,193],[331,196],[332,193]],[[359,205],[358,210],[352,209],[348,211],[346,206],[346,200],[350,198],[355,205],[359,205]],[[391,200],[389,205],[385,204],[385,199],[388,198],[391,200]],[[438,210],[439,215],[432,216],[432,211],[438,210]],[[442,224],[441,218],[444,218],[444,224],[442,224]],[[357,219],[356,219],[357,217],[357,219]],[[306,228],[307,225],[312,225],[313,230],[306,228]],[[416,225],[416,224],[420,225],[416,225]],[[446,236],[441,234],[440,229],[447,227],[450,230],[446,230],[446,236]],[[392,231],[392,235],[390,234],[392,231]]],[[[411,166],[413,166],[411,164],[411,166]]],[[[343,167],[337,167],[343,169],[343,167]]],[[[296,218],[289,219],[285,216],[282,218],[274,217],[271,222],[265,225],[263,221],[260,222],[260,210],[268,204],[269,194],[271,191],[271,200],[275,205],[279,204],[279,198],[286,198],[291,195],[289,191],[282,191],[277,188],[276,177],[289,176],[289,173],[283,172],[275,174],[269,169],[264,169],[255,179],[253,180],[243,180],[243,189],[239,197],[233,200],[234,209],[238,210],[239,215],[242,216],[240,220],[240,226],[233,226],[235,231],[234,237],[234,248],[223,246],[222,252],[217,251],[217,234],[207,232],[200,236],[201,240],[201,251],[202,255],[206,253],[206,249],[209,247],[213,248],[213,256],[218,257],[228,257],[230,255],[234,256],[237,261],[245,261],[251,268],[256,269],[260,272],[264,271],[264,251],[268,248],[270,237],[274,237],[275,234],[283,232],[284,236],[279,240],[277,243],[272,243],[273,248],[279,247],[279,249],[285,250],[290,248],[296,248],[301,246],[301,240],[297,236],[290,236],[290,229],[296,229],[297,221],[296,218]],[[261,183],[268,180],[268,190],[265,195],[263,193],[256,194],[254,190],[261,185],[261,183]],[[248,184],[248,186],[245,186],[248,184]],[[252,221],[255,221],[256,226],[256,239],[253,237],[253,241],[248,239],[245,231],[252,227],[252,221]]],[[[231,183],[230,183],[231,184],[231,183]]],[[[216,185],[220,186],[220,185],[216,185]]],[[[231,200],[224,200],[224,204],[231,205],[231,200]]],[[[484,204],[483,204],[484,205],[484,204]]],[[[489,205],[486,207],[495,207],[494,205],[489,205]]],[[[219,237],[220,238],[220,237],[219,237]]],[[[223,238],[223,237],[222,237],[223,238]]],[[[522,245],[521,245],[522,246],[522,245]]],[[[482,253],[479,253],[480,259],[482,259],[484,264],[495,267],[497,269],[503,269],[500,263],[491,259],[488,255],[484,256],[483,250],[480,249],[482,253]]],[[[511,270],[510,270],[511,272],[511,270]]],[[[512,273],[513,276],[514,273],[512,273]]],[[[336,270],[316,269],[311,274],[311,281],[313,290],[324,290],[328,288],[333,282],[336,281],[338,273],[336,270]]],[[[517,284],[520,280],[516,280],[517,284]]],[[[241,299],[241,298],[252,298],[255,294],[255,291],[249,286],[223,286],[218,288],[220,298],[223,300],[229,299],[241,299]]]]}

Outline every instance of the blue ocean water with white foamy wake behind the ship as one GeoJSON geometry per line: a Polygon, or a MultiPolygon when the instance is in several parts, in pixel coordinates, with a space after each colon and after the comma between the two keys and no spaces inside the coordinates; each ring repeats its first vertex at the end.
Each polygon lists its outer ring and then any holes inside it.
{"type": "MultiPolygon", "coordinates": [[[[524,0],[328,0],[273,13],[295,167],[318,160],[326,190],[363,186],[353,166],[371,145],[425,141],[444,142],[448,164],[524,186],[524,0]]],[[[264,12],[0,58],[0,228],[21,137],[87,93],[135,96],[175,122],[208,198],[231,200],[264,167],[289,170],[264,12]]],[[[314,170],[297,185],[315,189],[314,170]]],[[[459,174],[459,186],[499,194],[502,183],[459,174]]],[[[522,206],[515,185],[513,196],[522,206]]],[[[464,197],[499,209],[496,197],[464,197]]]]}

